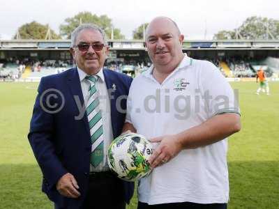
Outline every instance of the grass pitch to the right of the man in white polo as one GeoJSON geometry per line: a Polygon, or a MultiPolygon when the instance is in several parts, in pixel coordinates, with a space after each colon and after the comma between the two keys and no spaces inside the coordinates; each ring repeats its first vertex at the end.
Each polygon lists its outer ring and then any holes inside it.
{"type": "Polygon", "coordinates": [[[254,82],[239,89],[242,130],[229,139],[229,208],[279,208],[279,83],[255,95],[254,82]]]}

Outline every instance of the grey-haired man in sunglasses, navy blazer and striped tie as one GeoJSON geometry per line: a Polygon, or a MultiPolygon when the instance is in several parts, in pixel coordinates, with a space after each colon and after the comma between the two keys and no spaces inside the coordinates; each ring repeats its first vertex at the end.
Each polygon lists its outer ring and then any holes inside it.
{"type": "Polygon", "coordinates": [[[72,33],[76,68],[43,77],[29,141],[55,208],[125,208],[133,184],[110,173],[107,148],[122,130],[132,79],[103,69],[109,47],[98,26],[72,33]]]}

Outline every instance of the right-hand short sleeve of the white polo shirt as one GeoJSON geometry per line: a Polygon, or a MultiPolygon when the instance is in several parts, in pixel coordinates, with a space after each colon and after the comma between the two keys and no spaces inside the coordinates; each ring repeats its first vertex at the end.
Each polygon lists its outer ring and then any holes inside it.
{"type": "Polygon", "coordinates": [[[199,77],[199,86],[201,86],[209,118],[224,113],[240,114],[238,89],[232,89],[229,82],[213,63],[204,61],[199,77]]]}

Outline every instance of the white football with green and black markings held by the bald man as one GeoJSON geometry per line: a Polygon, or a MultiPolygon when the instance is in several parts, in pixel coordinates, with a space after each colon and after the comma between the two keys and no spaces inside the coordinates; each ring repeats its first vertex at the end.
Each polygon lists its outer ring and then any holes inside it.
{"type": "Polygon", "coordinates": [[[151,172],[149,157],[152,144],[140,134],[128,132],[112,141],[107,153],[107,162],[116,176],[135,181],[151,172]]]}

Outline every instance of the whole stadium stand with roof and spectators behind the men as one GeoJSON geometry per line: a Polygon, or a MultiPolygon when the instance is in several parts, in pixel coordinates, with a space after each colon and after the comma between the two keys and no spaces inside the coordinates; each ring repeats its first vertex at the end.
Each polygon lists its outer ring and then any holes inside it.
{"type": "MultiPolygon", "coordinates": [[[[110,53],[106,65],[110,70],[134,76],[151,64],[144,40],[108,40],[108,45],[110,53]],[[133,70],[125,70],[124,65],[133,65],[133,70]]],[[[3,63],[0,77],[28,79],[59,73],[73,66],[69,47],[70,40],[0,40],[0,63],[3,63]],[[20,65],[27,66],[25,72],[20,65]]],[[[208,59],[229,78],[254,77],[257,66],[267,66],[266,75],[278,77],[278,47],[279,40],[183,42],[183,52],[188,56],[208,59]]]]}

